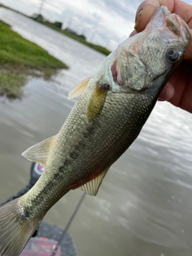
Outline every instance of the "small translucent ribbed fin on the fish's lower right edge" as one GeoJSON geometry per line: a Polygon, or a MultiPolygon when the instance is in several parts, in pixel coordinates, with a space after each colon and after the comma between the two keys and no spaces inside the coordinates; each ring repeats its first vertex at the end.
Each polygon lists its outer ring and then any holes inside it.
{"type": "Polygon", "coordinates": [[[109,168],[104,170],[102,174],[99,174],[98,177],[92,179],[90,182],[87,182],[83,186],[80,186],[79,189],[90,195],[98,194],[99,186],[101,186],[102,180],[106,176],[108,170],[109,168]]]}

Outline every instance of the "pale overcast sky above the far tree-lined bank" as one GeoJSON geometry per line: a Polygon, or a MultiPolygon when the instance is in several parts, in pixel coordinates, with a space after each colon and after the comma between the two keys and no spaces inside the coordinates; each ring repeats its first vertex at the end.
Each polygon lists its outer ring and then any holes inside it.
{"type": "MultiPolygon", "coordinates": [[[[134,28],[134,15],[142,0],[0,0],[2,4],[32,15],[39,12],[50,21],[84,34],[88,41],[114,50],[134,28]]],[[[192,3],[192,0],[185,2],[192,3]]]]}

